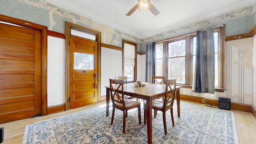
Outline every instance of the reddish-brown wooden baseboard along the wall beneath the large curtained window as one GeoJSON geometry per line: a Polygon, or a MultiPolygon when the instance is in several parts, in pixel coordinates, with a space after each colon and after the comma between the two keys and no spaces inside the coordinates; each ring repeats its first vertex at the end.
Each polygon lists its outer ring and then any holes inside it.
{"type": "MultiPolygon", "coordinates": [[[[218,100],[201,98],[201,97],[196,97],[196,96],[188,96],[188,95],[183,95],[183,94],[180,94],[180,99],[181,100],[188,100],[188,101],[192,101],[192,102],[198,102],[198,103],[201,103],[201,104],[208,104],[208,103],[210,103],[213,106],[217,106],[218,107],[218,100]],[[206,100],[205,103],[202,102],[203,99],[206,100]]],[[[238,104],[238,103],[231,102],[231,109],[252,113],[252,106],[251,105],[247,105],[247,104],[238,104]]],[[[256,112],[255,112],[255,115],[256,115],[256,112]]]]}

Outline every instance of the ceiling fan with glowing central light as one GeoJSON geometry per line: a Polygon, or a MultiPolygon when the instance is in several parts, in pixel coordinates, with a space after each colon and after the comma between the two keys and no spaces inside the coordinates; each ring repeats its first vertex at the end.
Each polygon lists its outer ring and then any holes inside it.
{"type": "Polygon", "coordinates": [[[152,4],[150,4],[150,0],[138,0],[138,4],[136,4],[127,14],[126,16],[130,16],[135,10],[150,10],[155,16],[160,14],[160,12],[154,7],[152,4]]]}

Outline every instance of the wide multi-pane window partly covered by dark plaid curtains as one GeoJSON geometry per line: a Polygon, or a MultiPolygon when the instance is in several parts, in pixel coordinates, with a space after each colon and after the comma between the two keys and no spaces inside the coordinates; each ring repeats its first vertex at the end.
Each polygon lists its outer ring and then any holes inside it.
{"type": "MultiPolygon", "coordinates": [[[[224,88],[224,26],[214,28],[214,52],[215,88],[224,88]]],[[[192,86],[195,56],[195,33],[157,42],[156,74],[166,74],[167,79],[176,78],[178,84],[192,86]]]]}

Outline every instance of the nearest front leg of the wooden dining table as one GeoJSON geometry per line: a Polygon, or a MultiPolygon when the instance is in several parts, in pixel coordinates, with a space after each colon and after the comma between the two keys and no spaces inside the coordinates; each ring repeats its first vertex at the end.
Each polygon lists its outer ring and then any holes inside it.
{"type": "Polygon", "coordinates": [[[152,98],[146,100],[148,144],[152,144],[152,98]]]}

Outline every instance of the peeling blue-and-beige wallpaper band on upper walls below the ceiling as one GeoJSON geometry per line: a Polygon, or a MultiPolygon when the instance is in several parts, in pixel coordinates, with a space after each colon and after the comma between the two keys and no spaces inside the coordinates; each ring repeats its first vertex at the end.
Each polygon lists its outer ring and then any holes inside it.
{"type": "Polygon", "coordinates": [[[44,0],[1,0],[0,13],[41,24],[47,26],[49,30],[63,34],[65,33],[65,21],[72,22],[100,31],[102,33],[102,43],[105,44],[122,47],[122,39],[135,42],[138,44],[138,52],[145,52],[146,43],[164,40],[221,24],[226,24],[226,36],[247,33],[250,32],[256,21],[254,5],[251,5],[179,28],[170,28],[167,32],[140,39],[44,0]]]}

